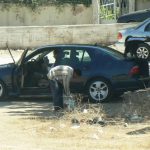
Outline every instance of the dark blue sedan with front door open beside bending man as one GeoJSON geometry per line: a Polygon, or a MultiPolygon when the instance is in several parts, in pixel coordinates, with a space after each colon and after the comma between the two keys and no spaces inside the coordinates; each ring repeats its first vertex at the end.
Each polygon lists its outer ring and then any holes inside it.
{"type": "Polygon", "coordinates": [[[109,100],[114,94],[144,88],[148,83],[149,75],[141,71],[143,66],[139,66],[138,61],[125,58],[111,48],[48,45],[25,50],[18,62],[0,65],[0,99],[14,95],[50,96],[45,68],[53,65],[56,49],[62,52],[60,65],[74,69],[71,92],[86,94],[92,102],[109,100]]]}

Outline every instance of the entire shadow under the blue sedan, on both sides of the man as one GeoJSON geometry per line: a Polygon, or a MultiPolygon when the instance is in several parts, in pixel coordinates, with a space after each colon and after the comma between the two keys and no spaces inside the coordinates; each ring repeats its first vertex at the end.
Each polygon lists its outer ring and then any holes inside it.
{"type": "MultiPolygon", "coordinates": [[[[86,108],[87,102],[81,104],[86,108]]],[[[89,104],[88,104],[89,105],[89,104]]],[[[115,117],[122,109],[122,99],[114,98],[107,103],[90,104],[93,107],[102,108],[107,116],[115,117]]],[[[63,117],[66,111],[53,111],[52,99],[49,98],[11,98],[0,102],[0,108],[9,116],[21,117],[23,119],[55,119],[63,117]]]]}

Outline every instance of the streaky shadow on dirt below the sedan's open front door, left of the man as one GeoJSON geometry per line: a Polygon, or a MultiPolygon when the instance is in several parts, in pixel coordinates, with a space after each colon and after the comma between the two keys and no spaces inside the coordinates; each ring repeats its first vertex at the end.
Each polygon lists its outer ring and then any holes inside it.
{"type": "MultiPolygon", "coordinates": [[[[55,118],[52,100],[46,98],[17,98],[6,99],[0,102],[0,108],[4,109],[9,116],[21,117],[24,119],[50,119],[55,118]]],[[[57,117],[61,117],[57,115],[57,117]]]]}

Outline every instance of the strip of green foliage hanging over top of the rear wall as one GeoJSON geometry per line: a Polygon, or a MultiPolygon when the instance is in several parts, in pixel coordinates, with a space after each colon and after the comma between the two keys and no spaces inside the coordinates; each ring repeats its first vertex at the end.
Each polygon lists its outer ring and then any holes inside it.
{"type": "Polygon", "coordinates": [[[84,4],[85,6],[89,6],[92,3],[92,0],[0,0],[0,3],[3,4],[21,4],[26,5],[32,8],[36,8],[42,5],[63,5],[63,4],[84,4]]]}

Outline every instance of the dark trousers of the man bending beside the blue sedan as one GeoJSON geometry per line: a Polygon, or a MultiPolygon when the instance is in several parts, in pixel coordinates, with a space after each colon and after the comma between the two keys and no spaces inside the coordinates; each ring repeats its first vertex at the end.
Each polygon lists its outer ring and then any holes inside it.
{"type": "Polygon", "coordinates": [[[63,109],[63,85],[57,80],[50,80],[54,109],[63,109]]]}

